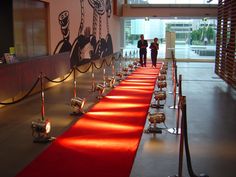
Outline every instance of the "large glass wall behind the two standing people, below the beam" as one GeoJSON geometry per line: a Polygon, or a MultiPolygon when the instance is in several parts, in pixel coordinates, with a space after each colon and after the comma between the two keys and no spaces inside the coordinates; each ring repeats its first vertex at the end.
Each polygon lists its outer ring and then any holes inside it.
{"type": "Polygon", "coordinates": [[[166,58],[166,32],[173,32],[177,59],[215,59],[216,19],[124,19],[123,24],[124,56],[138,56],[137,41],[144,34],[149,44],[159,38],[158,58],[166,58]]]}

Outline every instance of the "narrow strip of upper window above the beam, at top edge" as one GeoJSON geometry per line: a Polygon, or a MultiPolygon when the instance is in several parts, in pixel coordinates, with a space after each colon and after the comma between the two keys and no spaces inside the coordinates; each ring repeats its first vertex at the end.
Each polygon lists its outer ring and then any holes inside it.
{"type": "Polygon", "coordinates": [[[218,4],[218,0],[128,0],[128,4],[218,4]]]}

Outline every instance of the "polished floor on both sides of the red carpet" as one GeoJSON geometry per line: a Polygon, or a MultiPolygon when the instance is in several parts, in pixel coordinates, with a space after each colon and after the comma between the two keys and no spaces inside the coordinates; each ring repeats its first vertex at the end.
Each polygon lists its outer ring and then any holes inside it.
{"type": "MultiPolygon", "coordinates": [[[[214,63],[178,62],[182,75],[183,95],[187,98],[189,147],[196,174],[210,177],[235,177],[236,163],[236,91],[214,74],[214,63]]],[[[111,69],[106,71],[111,73],[111,69]]],[[[103,70],[96,71],[97,82],[103,70]]],[[[78,95],[87,98],[85,111],[98,102],[91,89],[91,73],[80,74],[78,95]]],[[[171,68],[168,70],[167,92],[172,91],[171,68]]],[[[107,90],[109,92],[109,90],[107,90]]],[[[52,136],[65,132],[78,117],[70,115],[72,81],[64,82],[45,92],[46,118],[52,123],[52,136]]],[[[173,95],[167,95],[163,110],[166,125],[176,127],[173,95]]],[[[150,108],[150,111],[157,111],[150,108]]],[[[13,177],[49,144],[33,143],[31,122],[41,118],[40,95],[0,108],[0,176],[13,177]]],[[[145,129],[148,126],[146,123],[145,129]]],[[[164,127],[164,125],[159,125],[164,127]]],[[[130,177],[165,177],[178,172],[179,136],[143,133],[130,177]]],[[[185,155],[185,154],[184,154],[185,155]]],[[[186,159],[184,176],[189,176],[186,159]]],[[[112,177],[112,176],[111,176],[112,177]]]]}

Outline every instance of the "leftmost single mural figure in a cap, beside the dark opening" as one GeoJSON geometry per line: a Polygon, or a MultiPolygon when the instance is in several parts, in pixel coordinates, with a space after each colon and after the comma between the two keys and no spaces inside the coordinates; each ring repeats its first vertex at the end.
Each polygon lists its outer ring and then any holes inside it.
{"type": "Polygon", "coordinates": [[[61,12],[58,16],[58,20],[61,26],[61,33],[63,35],[63,39],[58,42],[53,54],[68,52],[71,51],[72,48],[70,44],[69,12],[61,12]]]}

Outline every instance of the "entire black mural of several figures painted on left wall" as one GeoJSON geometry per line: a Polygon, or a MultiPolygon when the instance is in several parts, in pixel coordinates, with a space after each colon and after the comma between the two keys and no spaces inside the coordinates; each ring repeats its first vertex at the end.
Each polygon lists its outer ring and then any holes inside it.
{"type": "Polygon", "coordinates": [[[74,40],[72,45],[69,42],[69,12],[63,11],[59,14],[59,23],[61,25],[61,32],[63,39],[57,44],[55,53],[62,53],[70,51],[70,64],[71,67],[78,66],[92,59],[102,58],[113,53],[112,37],[109,32],[109,18],[111,17],[111,1],[106,0],[88,0],[93,12],[92,32],[91,26],[84,27],[85,12],[84,12],[84,0],[80,0],[80,26],[78,31],[78,37],[74,40]],[[106,31],[105,38],[102,36],[102,17],[106,19],[106,31]],[[98,32],[98,39],[97,39],[98,32]]]}

